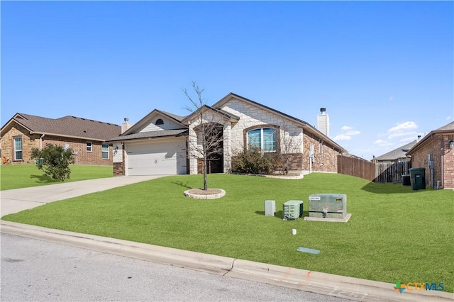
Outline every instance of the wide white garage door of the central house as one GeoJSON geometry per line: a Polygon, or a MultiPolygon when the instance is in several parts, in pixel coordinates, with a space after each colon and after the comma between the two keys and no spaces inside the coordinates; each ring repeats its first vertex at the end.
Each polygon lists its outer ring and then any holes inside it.
{"type": "Polygon", "coordinates": [[[128,175],[186,174],[184,140],[126,145],[128,175]]]}

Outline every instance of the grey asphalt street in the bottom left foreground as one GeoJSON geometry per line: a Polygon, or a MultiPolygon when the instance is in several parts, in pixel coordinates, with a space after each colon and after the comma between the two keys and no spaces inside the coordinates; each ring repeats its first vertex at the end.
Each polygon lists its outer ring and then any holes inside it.
{"type": "Polygon", "coordinates": [[[1,301],[349,301],[1,233],[1,301]]]}

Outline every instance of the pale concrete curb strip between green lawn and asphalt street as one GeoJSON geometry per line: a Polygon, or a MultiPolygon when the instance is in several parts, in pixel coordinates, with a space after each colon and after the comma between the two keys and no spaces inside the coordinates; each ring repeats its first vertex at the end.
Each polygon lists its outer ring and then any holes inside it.
{"type": "Polygon", "coordinates": [[[279,267],[216,255],[160,247],[109,237],[42,228],[35,225],[0,221],[1,233],[31,237],[88,250],[132,257],[160,264],[184,267],[211,274],[248,279],[355,301],[454,301],[454,293],[440,291],[404,291],[395,284],[279,267]]]}

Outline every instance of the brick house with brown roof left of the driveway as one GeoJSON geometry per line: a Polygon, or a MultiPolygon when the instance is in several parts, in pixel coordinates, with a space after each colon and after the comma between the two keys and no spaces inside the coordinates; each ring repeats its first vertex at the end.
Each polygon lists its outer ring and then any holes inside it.
{"type": "Polygon", "coordinates": [[[104,141],[121,133],[121,127],[87,118],[43,118],[16,113],[1,128],[1,156],[13,164],[34,163],[33,147],[52,143],[70,147],[75,164],[112,165],[112,150],[104,141]]]}

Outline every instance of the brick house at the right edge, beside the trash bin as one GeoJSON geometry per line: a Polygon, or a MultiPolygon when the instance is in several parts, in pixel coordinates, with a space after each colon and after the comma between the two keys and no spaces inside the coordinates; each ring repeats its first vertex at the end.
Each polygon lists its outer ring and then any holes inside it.
{"type": "Polygon", "coordinates": [[[426,169],[426,184],[454,189],[454,122],[428,133],[406,155],[412,167],[426,169]]]}

